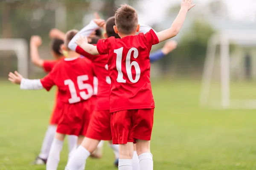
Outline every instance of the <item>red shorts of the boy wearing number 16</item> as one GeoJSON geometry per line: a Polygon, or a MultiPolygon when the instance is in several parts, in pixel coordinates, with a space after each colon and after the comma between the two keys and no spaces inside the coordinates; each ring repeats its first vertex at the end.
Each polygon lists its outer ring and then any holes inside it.
{"type": "Polygon", "coordinates": [[[153,128],[154,109],[135,109],[111,113],[113,144],[149,141],[153,128]]]}

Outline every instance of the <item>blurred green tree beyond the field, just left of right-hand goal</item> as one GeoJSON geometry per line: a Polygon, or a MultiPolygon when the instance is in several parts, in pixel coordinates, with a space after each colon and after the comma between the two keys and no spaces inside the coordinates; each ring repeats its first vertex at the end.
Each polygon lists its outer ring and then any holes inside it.
{"type": "Polygon", "coordinates": [[[173,52],[174,62],[179,73],[201,71],[206,56],[209,38],[215,32],[214,28],[206,20],[194,20],[181,38],[178,48],[173,52]]]}

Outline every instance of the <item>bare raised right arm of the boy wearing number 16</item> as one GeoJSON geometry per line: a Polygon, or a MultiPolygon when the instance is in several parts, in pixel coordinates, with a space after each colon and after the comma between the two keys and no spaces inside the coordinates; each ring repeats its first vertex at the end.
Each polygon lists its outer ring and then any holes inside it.
{"type": "Polygon", "coordinates": [[[172,23],[171,28],[157,33],[159,42],[175,37],[180,32],[180,29],[186,19],[187,12],[195,6],[195,4],[192,5],[192,1],[193,0],[182,0],[180,12],[172,23]]]}

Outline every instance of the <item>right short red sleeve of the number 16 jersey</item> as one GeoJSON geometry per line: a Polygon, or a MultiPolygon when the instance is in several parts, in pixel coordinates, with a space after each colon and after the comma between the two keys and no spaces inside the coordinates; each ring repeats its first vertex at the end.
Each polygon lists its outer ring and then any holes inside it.
{"type": "Polygon", "coordinates": [[[153,29],[148,31],[146,34],[140,33],[139,36],[142,37],[149,51],[151,51],[152,45],[159,43],[157,34],[154,32],[153,29]]]}

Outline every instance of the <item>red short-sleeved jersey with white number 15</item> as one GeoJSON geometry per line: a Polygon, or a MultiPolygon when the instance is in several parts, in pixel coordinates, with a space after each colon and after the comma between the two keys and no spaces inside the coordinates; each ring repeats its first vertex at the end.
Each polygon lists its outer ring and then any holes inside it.
{"type": "Polygon", "coordinates": [[[65,103],[87,100],[93,95],[93,64],[89,59],[64,59],[43,79],[43,87],[49,91],[58,87],[58,99],[65,103]]]}

